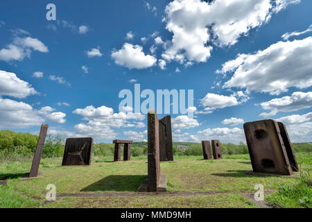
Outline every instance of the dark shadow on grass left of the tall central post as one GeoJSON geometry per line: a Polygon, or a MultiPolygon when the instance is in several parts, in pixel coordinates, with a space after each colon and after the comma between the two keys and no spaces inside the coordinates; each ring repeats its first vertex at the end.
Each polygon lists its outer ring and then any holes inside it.
{"type": "Polygon", "coordinates": [[[112,175],[94,182],[80,191],[137,191],[144,175],[112,175]]]}

